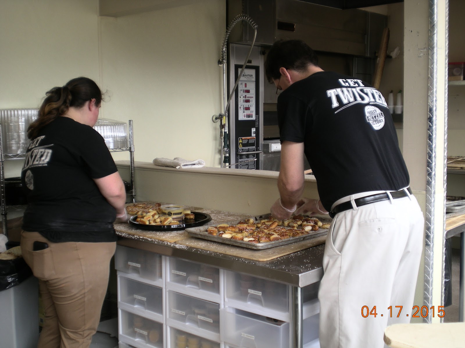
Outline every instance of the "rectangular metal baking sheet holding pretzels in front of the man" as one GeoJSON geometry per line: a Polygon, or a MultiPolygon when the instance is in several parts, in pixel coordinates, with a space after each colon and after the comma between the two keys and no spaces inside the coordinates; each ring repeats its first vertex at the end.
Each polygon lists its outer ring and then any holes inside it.
{"type": "MultiPolygon", "coordinates": [[[[252,218],[246,218],[246,219],[253,219],[254,222],[257,223],[257,222],[260,222],[260,220],[264,220],[264,219],[269,218],[270,216],[271,216],[271,214],[268,213],[268,214],[254,216],[252,218]]],[[[330,223],[332,221],[332,219],[330,217],[314,216],[314,218],[319,219],[323,223],[330,223]]],[[[226,222],[219,222],[216,225],[219,225],[221,223],[228,224],[228,225],[237,225],[239,223],[239,221],[243,221],[243,220],[244,219],[226,221],[226,222]]],[[[235,245],[235,246],[242,246],[244,248],[256,249],[256,250],[268,249],[268,248],[272,248],[272,247],[279,246],[279,245],[286,245],[286,244],[291,244],[291,243],[294,243],[294,242],[299,242],[299,241],[305,240],[305,239],[316,238],[316,237],[322,236],[322,235],[324,235],[324,234],[326,234],[328,232],[327,229],[319,229],[318,231],[312,231],[312,232],[310,232],[308,234],[305,234],[303,236],[291,237],[291,238],[281,239],[281,240],[275,240],[273,242],[249,243],[249,242],[244,242],[243,240],[236,240],[236,239],[232,239],[232,238],[222,238],[222,237],[218,237],[218,236],[213,236],[211,234],[208,234],[208,232],[206,232],[208,227],[209,226],[186,228],[186,232],[191,237],[203,238],[203,239],[211,240],[213,242],[229,244],[229,245],[235,245]]]]}

